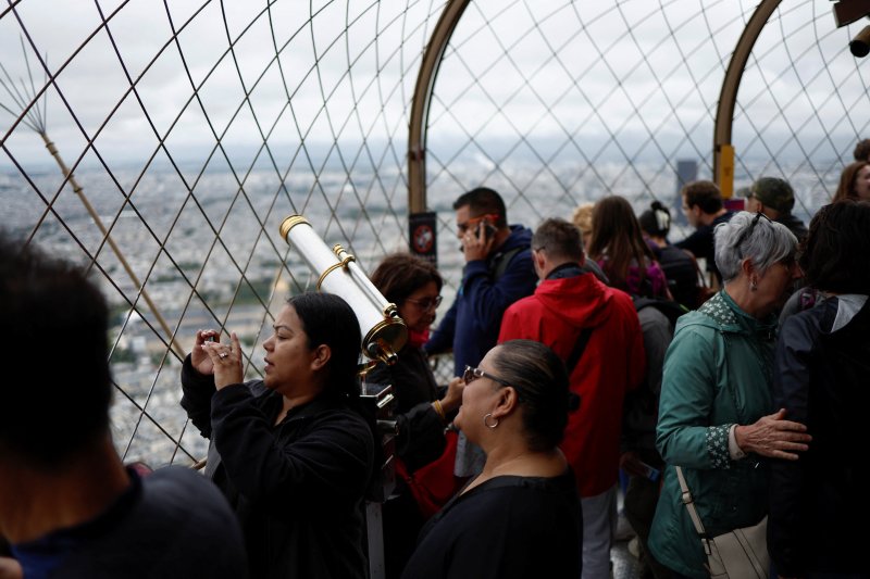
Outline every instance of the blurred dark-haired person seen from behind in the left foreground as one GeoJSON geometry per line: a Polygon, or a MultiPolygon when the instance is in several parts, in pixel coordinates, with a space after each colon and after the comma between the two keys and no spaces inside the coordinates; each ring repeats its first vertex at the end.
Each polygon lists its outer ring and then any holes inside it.
{"type": "Polygon", "coordinates": [[[117,455],[109,309],[85,270],[0,236],[0,537],[14,556],[0,577],[247,577],[211,482],[181,466],[140,477],[117,455]]]}

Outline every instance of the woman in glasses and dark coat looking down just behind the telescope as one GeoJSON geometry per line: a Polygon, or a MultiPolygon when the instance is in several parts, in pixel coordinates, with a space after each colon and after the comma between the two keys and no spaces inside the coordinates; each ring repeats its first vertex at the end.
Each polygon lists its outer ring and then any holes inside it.
{"type": "MultiPolygon", "coordinates": [[[[462,402],[462,381],[453,378],[445,390],[438,387],[423,344],[442,302],[442,276],[430,262],[396,253],[384,257],[371,275],[372,284],[395,303],[408,326],[408,343],[398,361],[378,363],[365,376],[372,385],[393,385],[397,419],[396,454],[409,474],[438,458],[445,451],[445,426],[462,402]],[[442,392],[442,390],[445,390],[442,392]]],[[[452,476],[445,481],[456,484],[452,476]]],[[[425,523],[418,503],[399,476],[396,489],[384,503],[384,557],[387,578],[398,577],[414,549],[425,523]]]]}

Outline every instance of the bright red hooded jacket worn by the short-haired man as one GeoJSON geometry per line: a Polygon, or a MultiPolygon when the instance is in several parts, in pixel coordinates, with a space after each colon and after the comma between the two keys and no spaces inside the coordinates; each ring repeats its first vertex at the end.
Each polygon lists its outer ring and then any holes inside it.
{"type": "Polygon", "coordinates": [[[622,402],[646,372],[644,336],[631,297],[592,274],[545,279],[501,320],[498,341],[529,339],[567,360],[583,328],[593,328],[571,372],[580,408],[568,418],[560,448],[574,469],[581,496],[595,496],[619,477],[622,402]]]}

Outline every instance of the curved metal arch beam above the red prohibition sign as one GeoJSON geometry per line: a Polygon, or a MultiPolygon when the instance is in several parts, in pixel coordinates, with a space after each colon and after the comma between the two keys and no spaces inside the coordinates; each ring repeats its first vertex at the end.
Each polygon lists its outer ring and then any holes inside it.
{"type": "Polygon", "coordinates": [[[408,137],[408,213],[426,211],[426,128],[428,105],[444,51],[471,0],[449,0],[432,33],[417,77],[408,137]]]}

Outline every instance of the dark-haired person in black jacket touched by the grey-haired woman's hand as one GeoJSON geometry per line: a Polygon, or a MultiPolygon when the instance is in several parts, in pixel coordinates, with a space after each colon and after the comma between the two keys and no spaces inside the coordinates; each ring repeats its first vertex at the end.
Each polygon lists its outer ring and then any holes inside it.
{"type": "Polygon", "coordinates": [[[826,299],[785,320],[776,347],[776,407],[806,425],[797,461],[772,461],[768,551],[782,578],[868,577],[862,500],[870,407],[870,203],[825,205],[810,222],[800,266],[826,299]]]}

